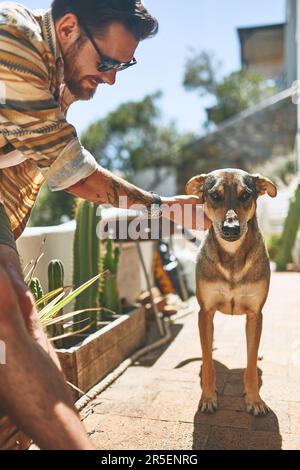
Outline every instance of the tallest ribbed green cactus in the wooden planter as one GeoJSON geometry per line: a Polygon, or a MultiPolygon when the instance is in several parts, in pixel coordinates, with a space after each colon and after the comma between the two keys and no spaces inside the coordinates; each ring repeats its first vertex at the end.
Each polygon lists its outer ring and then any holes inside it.
{"type": "MultiPolygon", "coordinates": [[[[99,272],[100,244],[96,233],[98,223],[97,207],[96,204],[86,200],[77,202],[77,224],[74,237],[74,287],[80,286],[99,272]]],[[[76,298],[75,310],[99,307],[98,291],[99,282],[95,282],[76,298]]],[[[97,329],[97,315],[93,314],[93,316],[93,323],[89,329],[90,333],[97,329]]],[[[86,315],[81,314],[78,318],[79,322],[84,318],[86,318],[86,315]]],[[[80,324],[74,324],[74,330],[78,329],[80,329],[80,324]]]]}

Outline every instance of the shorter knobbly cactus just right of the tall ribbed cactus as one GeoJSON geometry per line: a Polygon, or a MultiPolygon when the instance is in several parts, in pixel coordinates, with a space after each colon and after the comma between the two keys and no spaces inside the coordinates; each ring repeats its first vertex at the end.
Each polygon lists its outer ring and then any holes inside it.
{"type": "Polygon", "coordinates": [[[115,247],[111,238],[107,239],[106,252],[103,257],[102,269],[104,271],[103,279],[100,284],[100,305],[116,314],[121,314],[121,303],[117,284],[117,272],[120,259],[120,249],[115,247]]]}

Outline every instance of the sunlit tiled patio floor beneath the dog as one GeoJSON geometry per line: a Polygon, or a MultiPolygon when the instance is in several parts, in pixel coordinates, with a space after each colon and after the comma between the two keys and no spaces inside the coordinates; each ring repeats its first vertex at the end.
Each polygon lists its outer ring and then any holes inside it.
{"type": "MultiPolygon", "coordinates": [[[[245,317],[217,314],[214,358],[219,410],[198,411],[200,345],[195,314],[175,339],[144,356],[89,404],[84,424],[98,449],[300,449],[300,274],[273,274],[264,309],[261,396],[271,408],[244,409],[245,317]]],[[[87,409],[83,410],[86,414],[87,409]]]]}

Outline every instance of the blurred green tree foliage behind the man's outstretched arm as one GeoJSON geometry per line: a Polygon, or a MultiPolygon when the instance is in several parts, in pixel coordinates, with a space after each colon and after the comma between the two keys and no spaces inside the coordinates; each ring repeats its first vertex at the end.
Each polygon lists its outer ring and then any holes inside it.
{"type": "Polygon", "coordinates": [[[130,178],[150,166],[176,165],[181,136],[173,123],[162,126],[157,101],[161,93],[121,104],[91,124],[81,141],[108,170],[130,178]]]}

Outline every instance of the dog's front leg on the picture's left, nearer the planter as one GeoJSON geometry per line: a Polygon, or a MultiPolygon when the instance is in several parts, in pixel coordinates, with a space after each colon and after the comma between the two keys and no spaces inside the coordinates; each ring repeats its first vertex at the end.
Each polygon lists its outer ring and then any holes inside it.
{"type": "Polygon", "coordinates": [[[213,413],[218,408],[216,372],[212,358],[214,315],[214,311],[201,309],[199,312],[199,333],[202,348],[202,396],[200,410],[203,413],[213,413]]]}

